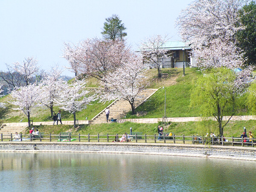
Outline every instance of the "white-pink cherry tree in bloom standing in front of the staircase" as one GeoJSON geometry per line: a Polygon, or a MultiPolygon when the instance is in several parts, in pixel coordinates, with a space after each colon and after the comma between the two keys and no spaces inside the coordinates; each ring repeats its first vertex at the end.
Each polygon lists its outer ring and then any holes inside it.
{"type": "Polygon", "coordinates": [[[134,114],[134,103],[140,98],[139,93],[147,86],[144,72],[144,64],[139,56],[132,61],[122,63],[102,81],[104,89],[99,90],[101,101],[125,99],[131,104],[131,111],[134,114]]]}

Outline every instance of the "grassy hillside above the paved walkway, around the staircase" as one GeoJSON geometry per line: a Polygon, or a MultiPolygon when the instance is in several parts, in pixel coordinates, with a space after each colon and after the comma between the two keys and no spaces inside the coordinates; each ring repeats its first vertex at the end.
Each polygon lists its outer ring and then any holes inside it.
{"type": "MultiPolygon", "coordinates": [[[[150,85],[148,88],[161,88],[157,91],[147,102],[140,105],[136,111],[136,115],[131,115],[131,112],[126,115],[126,118],[159,118],[164,116],[164,99],[166,90],[166,116],[168,117],[186,117],[186,116],[200,116],[194,108],[190,108],[190,90],[192,88],[192,82],[201,76],[196,68],[186,68],[185,76],[183,77],[183,69],[163,69],[163,77],[157,78],[157,70],[151,69],[147,71],[148,81],[150,85]]],[[[88,79],[87,87],[98,87],[99,81],[96,79],[88,79]]],[[[23,122],[27,121],[26,116],[20,112],[12,110],[15,106],[8,103],[10,96],[4,96],[0,98],[0,102],[7,103],[6,109],[0,110],[0,119],[3,122],[23,122]]],[[[98,103],[92,102],[87,106],[87,109],[80,111],[76,114],[77,119],[84,120],[86,117],[92,119],[96,114],[107,107],[111,102],[98,103]]],[[[54,111],[57,112],[58,107],[54,107],[54,111]]],[[[243,111],[237,113],[237,115],[248,115],[246,108],[243,111]]],[[[50,111],[48,108],[34,108],[31,111],[31,119],[34,122],[37,121],[51,121],[50,111]]],[[[73,115],[67,111],[62,112],[63,120],[73,120],[73,115]]]]}

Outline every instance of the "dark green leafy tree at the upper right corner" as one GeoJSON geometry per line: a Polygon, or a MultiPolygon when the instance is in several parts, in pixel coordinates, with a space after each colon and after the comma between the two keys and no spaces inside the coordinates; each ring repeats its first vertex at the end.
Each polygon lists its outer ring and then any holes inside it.
{"type": "Polygon", "coordinates": [[[246,28],[237,32],[239,47],[244,50],[247,65],[256,66],[256,3],[251,1],[239,10],[240,23],[246,28]]]}

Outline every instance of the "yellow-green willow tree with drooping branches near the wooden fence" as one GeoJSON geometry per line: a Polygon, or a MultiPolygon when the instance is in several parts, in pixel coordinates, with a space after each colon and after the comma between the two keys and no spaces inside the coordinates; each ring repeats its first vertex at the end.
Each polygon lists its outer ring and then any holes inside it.
{"type": "MultiPolygon", "coordinates": [[[[237,79],[237,74],[225,67],[204,71],[192,88],[191,106],[195,107],[204,120],[214,116],[218,122],[219,134],[223,135],[224,126],[240,108],[244,86],[237,79]],[[223,119],[229,115],[228,119],[223,119]]],[[[205,131],[209,131],[205,127],[205,131]]]]}

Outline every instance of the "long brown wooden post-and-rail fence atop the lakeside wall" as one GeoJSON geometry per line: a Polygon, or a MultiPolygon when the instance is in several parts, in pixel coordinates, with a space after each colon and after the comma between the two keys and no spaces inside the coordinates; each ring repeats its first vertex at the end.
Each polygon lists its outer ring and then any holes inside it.
{"type": "MultiPolygon", "coordinates": [[[[122,135],[115,134],[106,134],[106,135],[73,135],[73,134],[38,134],[38,135],[31,135],[31,134],[19,134],[19,139],[14,138],[13,134],[1,134],[1,141],[47,141],[47,142],[53,142],[53,141],[76,141],[76,142],[112,142],[122,137],[122,135]]],[[[17,136],[16,136],[17,137],[17,136]]],[[[241,145],[241,146],[251,146],[254,147],[256,145],[256,139],[254,138],[240,138],[240,137],[201,137],[201,136],[185,136],[184,134],[182,136],[159,136],[159,135],[125,135],[125,141],[124,142],[135,142],[135,143],[183,143],[183,144],[209,144],[209,145],[241,145]],[[160,138],[159,138],[160,137],[160,138]],[[158,140],[158,138],[160,140],[158,140]],[[246,140],[246,142],[245,142],[246,140]]]]}

